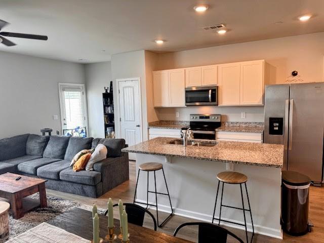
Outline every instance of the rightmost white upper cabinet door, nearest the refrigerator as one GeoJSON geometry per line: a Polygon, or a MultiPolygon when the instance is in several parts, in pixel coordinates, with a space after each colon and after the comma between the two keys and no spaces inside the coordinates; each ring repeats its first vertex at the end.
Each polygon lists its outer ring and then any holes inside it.
{"type": "Polygon", "coordinates": [[[240,105],[263,105],[264,60],[241,62],[240,105]]]}

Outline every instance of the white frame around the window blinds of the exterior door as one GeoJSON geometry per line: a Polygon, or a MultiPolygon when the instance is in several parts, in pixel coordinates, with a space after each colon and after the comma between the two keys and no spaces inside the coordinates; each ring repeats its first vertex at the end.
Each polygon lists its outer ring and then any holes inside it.
{"type": "Polygon", "coordinates": [[[59,103],[60,103],[60,114],[61,114],[61,133],[62,136],[63,134],[63,104],[61,103],[62,101],[62,94],[61,94],[61,88],[65,86],[70,86],[72,89],[73,87],[82,87],[83,88],[83,102],[85,106],[85,116],[86,116],[86,126],[87,126],[87,137],[90,137],[90,128],[89,128],[89,120],[88,120],[88,99],[87,99],[87,91],[86,91],[86,85],[85,84],[76,84],[76,83],[58,83],[59,86],[59,103]]]}

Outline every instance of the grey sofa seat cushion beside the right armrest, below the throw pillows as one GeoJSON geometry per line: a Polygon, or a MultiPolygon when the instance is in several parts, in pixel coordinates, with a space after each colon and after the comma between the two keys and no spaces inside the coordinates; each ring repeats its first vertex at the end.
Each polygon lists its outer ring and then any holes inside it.
{"type": "Polygon", "coordinates": [[[71,167],[60,172],[62,181],[70,181],[79,184],[97,185],[101,181],[101,173],[96,171],[74,172],[71,167]]]}

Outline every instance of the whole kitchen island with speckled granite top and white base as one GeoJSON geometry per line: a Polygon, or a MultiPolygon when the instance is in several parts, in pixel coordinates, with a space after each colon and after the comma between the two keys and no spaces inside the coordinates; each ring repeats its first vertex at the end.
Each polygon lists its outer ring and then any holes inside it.
{"type": "MultiPolygon", "coordinates": [[[[163,164],[175,214],[211,222],[218,183],[216,175],[233,170],[248,176],[247,186],[255,232],[282,238],[280,185],[284,146],[219,141],[215,146],[184,147],[170,144],[175,140],[158,137],[123,149],[125,152],[136,153],[137,173],[140,164],[163,164]]],[[[153,175],[149,176],[149,184],[153,191],[153,175]]],[[[141,172],[137,200],[143,203],[146,202],[146,186],[147,173],[141,172]]],[[[156,172],[156,186],[157,191],[166,192],[161,171],[156,172]]],[[[152,193],[149,195],[149,203],[155,203],[152,193]]],[[[245,205],[246,203],[247,200],[245,205]]],[[[238,185],[224,185],[223,205],[241,208],[238,185]]],[[[217,206],[216,215],[219,214],[219,201],[217,206]]],[[[159,210],[171,212],[167,196],[158,197],[158,207],[159,210]]],[[[222,219],[244,223],[242,211],[230,208],[222,208],[222,219]]],[[[250,221],[247,222],[248,230],[252,231],[250,221]]],[[[244,229],[234,224],[223,224],[244,229]]]]}

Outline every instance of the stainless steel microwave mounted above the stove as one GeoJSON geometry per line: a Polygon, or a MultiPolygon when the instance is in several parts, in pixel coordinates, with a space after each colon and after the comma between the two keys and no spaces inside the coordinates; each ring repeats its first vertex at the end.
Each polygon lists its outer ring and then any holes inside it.
{"type": "Polygon", "coordinates": [[[186,105],[218,105],[218,87],[189,87],[185,89],[186,105]]]}

